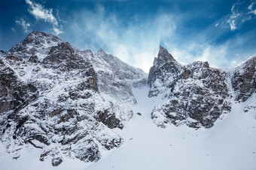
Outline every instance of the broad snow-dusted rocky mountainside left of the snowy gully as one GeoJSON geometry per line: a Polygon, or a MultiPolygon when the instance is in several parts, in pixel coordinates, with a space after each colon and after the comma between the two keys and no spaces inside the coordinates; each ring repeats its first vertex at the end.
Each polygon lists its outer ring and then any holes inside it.
{"type": "Polygon", "coordinates": [[[17,159],[20,149],[41,148],[38,159],[58,166],[63,157],[97,161],[100,148],[120,147],[123,139],[111,129],[122,129],[133,116],[120,101],[136,103],[132,85],[145,83],[146,74],[101,53],[82,52],[39,31],[1,51],[0,139],[8,153],[17,159]],[[99,70],[100,64],[111,67],[99,70]],[[125,97],[114,96],[111,87],[125,97]]]}

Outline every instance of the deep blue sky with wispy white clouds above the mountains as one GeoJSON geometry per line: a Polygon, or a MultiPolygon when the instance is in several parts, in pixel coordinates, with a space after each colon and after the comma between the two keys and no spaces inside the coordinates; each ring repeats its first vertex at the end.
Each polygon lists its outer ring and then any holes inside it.
{"type": "Polygon", "coordinates": [[[5,51],[44,31],[146,73],[160,45],[181,64],[223,69],[256,55],[256,0],[0,0],[0,13],[5,51]]]}

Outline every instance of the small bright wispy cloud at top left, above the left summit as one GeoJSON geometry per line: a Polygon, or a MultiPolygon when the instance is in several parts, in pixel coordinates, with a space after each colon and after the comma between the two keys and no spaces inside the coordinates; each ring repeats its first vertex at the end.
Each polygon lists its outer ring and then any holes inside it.
{"type": "Polygon", "coordinates": [[[50,22],[53,25],[53,31],[56,34],[62,34],[62,28],[59,26],[59,22],[53,15],[53,9],[45,9],[41,4],[35,3],[30,0],[25,0],[26,4],[29,4],[29,13],[35,16],[35,19],[42,19],[44,22],[50,22]]]}

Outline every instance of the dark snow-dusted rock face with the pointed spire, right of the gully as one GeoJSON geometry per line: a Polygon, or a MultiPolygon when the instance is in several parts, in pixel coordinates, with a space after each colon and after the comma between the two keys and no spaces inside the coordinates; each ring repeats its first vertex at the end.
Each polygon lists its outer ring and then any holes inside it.
{"type": "Polygon", "coordinates": [[[231,109],[231,100],[245,101],[255,92],[255,58],[230,72],[197,61],[183,66],[160,46],[148,77],[149,97],[162,95],[166,101],[151,113],[154,123],[212,127],[231,109]]]}

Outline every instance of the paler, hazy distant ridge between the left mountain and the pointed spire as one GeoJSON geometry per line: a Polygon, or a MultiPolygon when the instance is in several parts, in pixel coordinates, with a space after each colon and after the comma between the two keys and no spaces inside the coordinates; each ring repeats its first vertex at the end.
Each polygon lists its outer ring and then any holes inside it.
{"type": "Polygon", "coordinates": [[[147,74],[142,70],[120,61],[114,55],[99,49],[96,54],[86,50],[81,52],[84,58],[89,58],[96,70],[99,91],[119,100],[121,103],[135,104],[136,98],[132,88],[140,88],[147,84],[147,74]]]}

